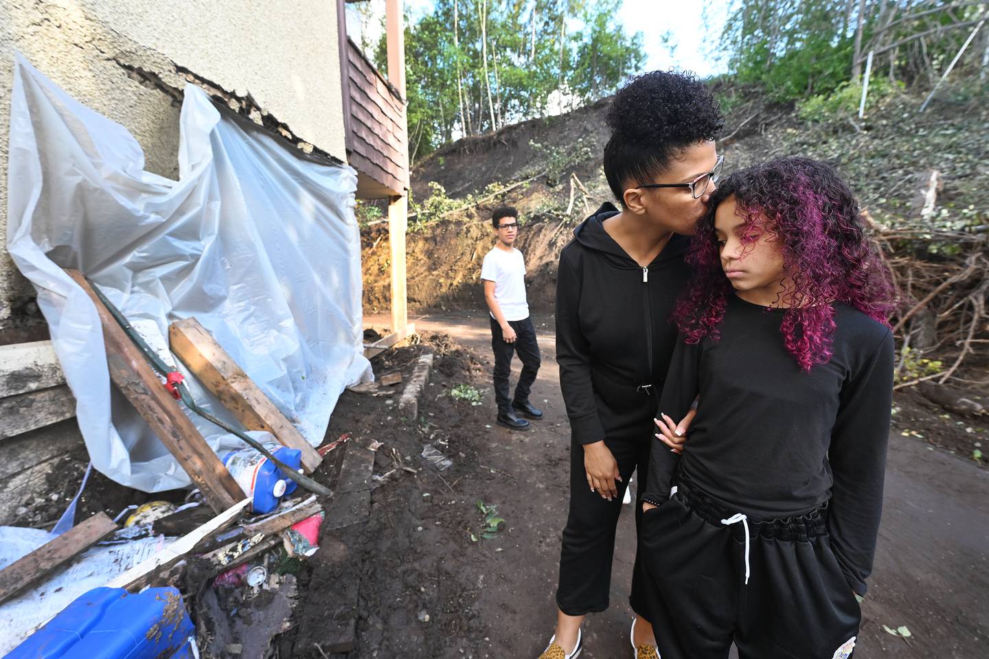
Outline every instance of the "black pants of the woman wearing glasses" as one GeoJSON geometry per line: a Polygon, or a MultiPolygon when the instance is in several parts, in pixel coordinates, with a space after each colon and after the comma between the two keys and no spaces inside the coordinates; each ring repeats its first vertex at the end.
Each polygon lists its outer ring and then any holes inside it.
{"type": "MultiPolygon", "coordinates": [[[[570,513],[563,532],[557,589],[557,606],[568,616],[584,616],[608,608],[611,560],[622,496],[636,469],[638,482],[645,485],[654,434],[657,403],[652,392],[602,381],[596,373],[594,385],[598,417],[607,433],[604,444],[618,462],[622,479],[616,483],[618,496],[612,501],[591,492],[584,469],[584,447],[577,442],[571,444],[570,513]]],[[[642,506],[634,502],[632,508],[638,533],[642,506]]],[[[643,586],[642,566],[636,556],[629,603],[633,611],[648,619],[643,608],[643,586]]]]}

